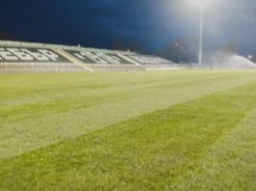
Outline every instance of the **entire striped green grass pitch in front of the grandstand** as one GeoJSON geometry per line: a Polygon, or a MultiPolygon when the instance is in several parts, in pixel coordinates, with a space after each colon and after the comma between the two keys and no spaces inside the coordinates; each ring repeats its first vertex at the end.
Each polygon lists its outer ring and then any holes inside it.
{"type": "Polygon", "coordinates": [[[0,190],[255,182],[255,70],[0,75],[0,190]]]}

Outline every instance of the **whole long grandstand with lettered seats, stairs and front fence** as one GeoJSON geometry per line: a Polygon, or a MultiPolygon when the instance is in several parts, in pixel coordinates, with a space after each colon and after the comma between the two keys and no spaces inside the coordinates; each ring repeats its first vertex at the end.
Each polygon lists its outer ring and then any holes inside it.
{"type": "Polygon", "coordinates": [[[179,68],[156,56],[67,45],[0,41],[0,72],[179,68]]]}

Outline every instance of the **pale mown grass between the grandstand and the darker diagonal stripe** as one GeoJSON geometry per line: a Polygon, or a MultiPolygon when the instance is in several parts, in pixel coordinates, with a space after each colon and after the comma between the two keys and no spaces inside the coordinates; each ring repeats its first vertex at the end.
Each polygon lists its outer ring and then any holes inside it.
{"type": "Polygon", "coordinates": [[[0,158],[256,80],[254,71],[0,76],[0,158]]]}

